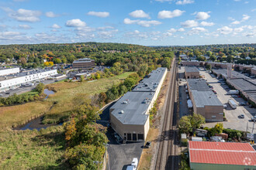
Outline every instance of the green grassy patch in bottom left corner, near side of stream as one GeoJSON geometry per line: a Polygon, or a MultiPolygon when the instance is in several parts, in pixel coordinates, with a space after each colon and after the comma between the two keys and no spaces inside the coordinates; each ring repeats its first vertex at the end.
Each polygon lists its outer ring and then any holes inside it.
{"type": "Polygon", "coordinates": [[[63,128],[0,131],[0,169],[67,169],[63,128]]]}

